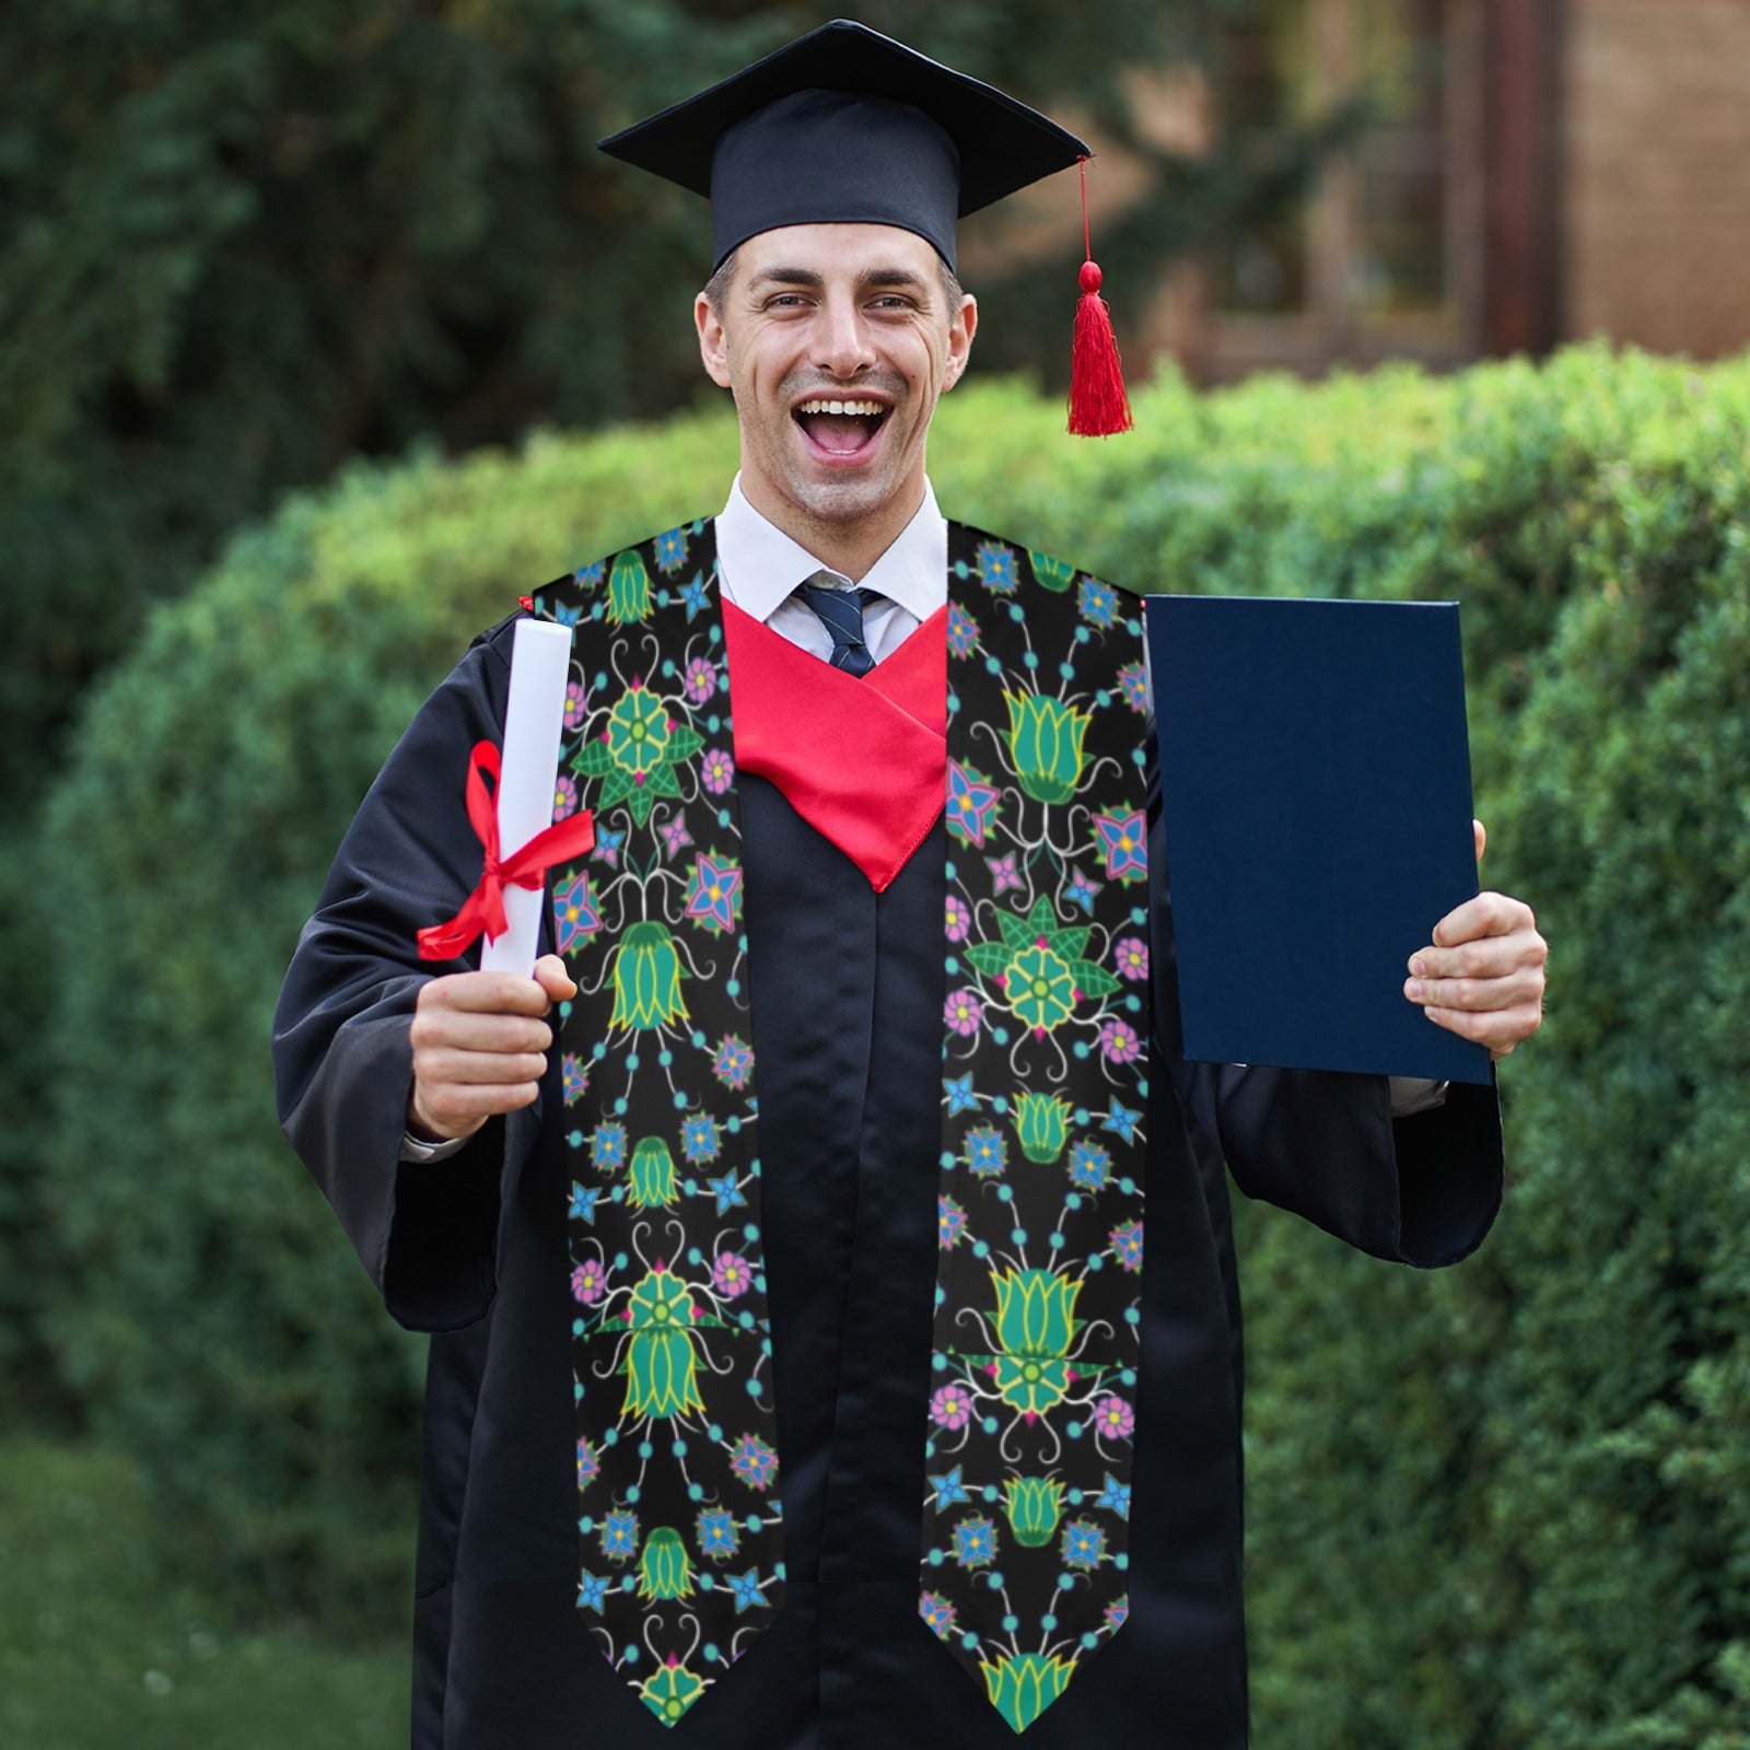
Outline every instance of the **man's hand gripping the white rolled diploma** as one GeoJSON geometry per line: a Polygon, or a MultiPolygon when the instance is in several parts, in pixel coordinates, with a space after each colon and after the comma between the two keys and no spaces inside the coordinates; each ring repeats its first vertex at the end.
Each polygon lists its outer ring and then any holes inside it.
{"type": "Polygon", "coordinates": [[[450,973],[422,985],[408,1129],[425,1141],[452,1141],[499,1113],[532,1106],[553,1045],[544,1017],[576,994],[556,954],[536,961],[534,978],[450,973]]]}

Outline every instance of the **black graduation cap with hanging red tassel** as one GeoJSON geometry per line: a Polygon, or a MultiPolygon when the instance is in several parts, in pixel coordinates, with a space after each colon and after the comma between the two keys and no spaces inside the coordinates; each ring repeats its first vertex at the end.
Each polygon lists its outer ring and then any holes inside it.
{"type": "MultiPolygon", "coordinates": [[[[600,149],[709,198],[714,268],[747,238],[794,224],[898,226],[952,268],[961,214],[1090,156],[1048,116],[850,19],[810,30],[600,149]]],[[[1082,289],[1069,429],[1124,430],[1130,410],[1092,261],[1082,289]]]]}

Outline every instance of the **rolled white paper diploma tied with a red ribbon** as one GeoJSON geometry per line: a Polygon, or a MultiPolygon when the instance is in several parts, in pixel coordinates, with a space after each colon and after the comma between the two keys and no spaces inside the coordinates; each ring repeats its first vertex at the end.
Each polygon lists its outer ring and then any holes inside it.
{"type": "MultiPolygon", "coordinates": [[[[570,676],[570,626],[550,620],[518,620],[511,644],[511,702],[504,712],[504,752],[499,774],[499,856],[509,858],[553,821],[558,786],[558,737],[570,676]]],[[[536,970],[541,942],[542,887],[504,889],[508,928],[497,942],[481,938],[483,973],[536,970]]]]}

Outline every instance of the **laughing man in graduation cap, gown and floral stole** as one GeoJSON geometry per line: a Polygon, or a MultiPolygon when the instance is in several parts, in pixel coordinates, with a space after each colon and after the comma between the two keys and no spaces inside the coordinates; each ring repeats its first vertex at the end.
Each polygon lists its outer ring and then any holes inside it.
{"type": "MultiPolygon", "coordinates": [[[[956,212],[1080,142],[836,24],[609,144],[710,191],[742,469],[536,598],[597,835],[560,954],[413,948],[480,875],[500,626],[362,805],[276,1026],[287,1132],[434,1334],[416,1741],[1232,1750],[1222,1157],[1444,1264],[1500,1197],[1493,1090],[1181,1060],[1134,611],[934,508],[956,212]]],[[[1435,1022],[1536,1027],[1517,901],[1405,952],[1435,1022]]]]}

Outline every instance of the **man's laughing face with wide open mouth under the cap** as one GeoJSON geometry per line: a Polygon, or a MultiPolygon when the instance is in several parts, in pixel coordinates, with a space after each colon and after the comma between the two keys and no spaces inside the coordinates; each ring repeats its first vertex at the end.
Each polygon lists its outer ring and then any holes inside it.
{"type": "Polygon", "coordinates": [[[698,345],[735,396],[742,490],[791,534],[903,520],[922,502],[936,397],[978,320],[950,303],[936,252],[880,224],[763,231],[737,250],[721,313],[700,294],[698,345]]]}

